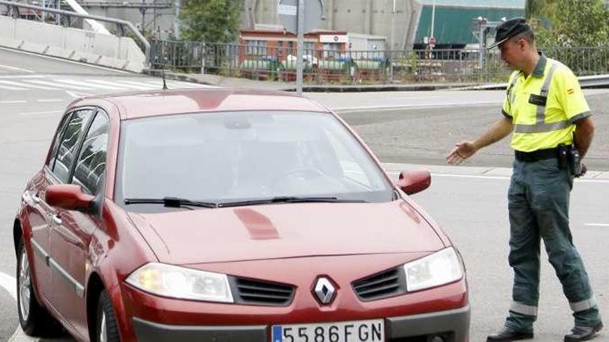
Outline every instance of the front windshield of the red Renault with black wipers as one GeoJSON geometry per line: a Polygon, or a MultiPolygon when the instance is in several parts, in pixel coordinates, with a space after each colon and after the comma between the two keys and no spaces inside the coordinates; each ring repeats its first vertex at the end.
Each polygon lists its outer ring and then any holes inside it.
{"type": "Polygon", "coordinates": [[[161,210],[163,198],[252,205],[284,197],[385,202],[394,196],[371,155],[327,113],[125,120],[117,175],[117,202],[127,200],[129,210],[161,210]]]}

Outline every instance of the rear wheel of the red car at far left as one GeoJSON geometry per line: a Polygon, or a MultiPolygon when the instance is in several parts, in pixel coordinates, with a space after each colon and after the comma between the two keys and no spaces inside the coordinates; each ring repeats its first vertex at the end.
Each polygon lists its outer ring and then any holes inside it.
{"type": "Polygon", "coordinates": [[[62,326],[38,303],[34,293],[32,269],[23,239],[19,241],[17,256],[17,314],[21,329],[29,336],[61,335],[64,332],[62,326]]]}

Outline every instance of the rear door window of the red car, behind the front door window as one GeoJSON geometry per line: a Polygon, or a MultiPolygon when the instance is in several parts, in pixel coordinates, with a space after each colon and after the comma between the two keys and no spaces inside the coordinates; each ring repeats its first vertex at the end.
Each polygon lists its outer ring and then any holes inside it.
{"type": "Polygon", "coordinates": [[[78,151],[78,141],[84,130],[87,129],[91,114],[93,114],[93,109],[75,111],[62,135],[61,144],[57,149],[57,160],[53,165],[53,173],[61,182],[66,183],[69,180],[72,163],[78,151]]]}

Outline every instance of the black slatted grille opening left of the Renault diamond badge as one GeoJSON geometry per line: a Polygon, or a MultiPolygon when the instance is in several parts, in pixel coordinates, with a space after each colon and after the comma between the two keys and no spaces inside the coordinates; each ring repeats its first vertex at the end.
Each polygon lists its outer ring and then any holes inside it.
{"type": "Polygon", "coordinates": [[[287,306],[292,302],[294,287],[255,279],[230,277],[235,303],[287,306]]]}

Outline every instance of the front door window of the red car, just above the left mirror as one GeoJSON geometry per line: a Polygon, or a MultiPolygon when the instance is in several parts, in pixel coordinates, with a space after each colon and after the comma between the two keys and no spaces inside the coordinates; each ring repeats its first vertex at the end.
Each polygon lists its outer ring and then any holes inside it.
{"type": "Polygon", "coordinates": [[[98,111],[87,136],[84,137],[80,155],[76,160],[72,183],[79,184],[82,191],[90,195],[96,195],[101,188],[106,169],[108,131],[108,117],[106,113],[98,111]]]}

